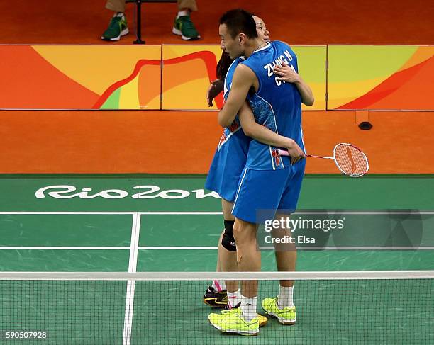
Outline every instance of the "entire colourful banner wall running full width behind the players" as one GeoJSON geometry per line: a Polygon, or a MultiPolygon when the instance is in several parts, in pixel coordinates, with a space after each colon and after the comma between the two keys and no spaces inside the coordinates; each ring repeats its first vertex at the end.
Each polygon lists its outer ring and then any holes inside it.
{"type": "MultiPolygon", "coordinates": [[[[293,48],[315,96],[314,106],[305,110],[434,110],[432,46],[293,48]]],[[[206,103],[221,56],[218,45],[0,45],[0,56],[0,108],[217,110],[223,105],[222,96],[211,108],[206,103]]]]}

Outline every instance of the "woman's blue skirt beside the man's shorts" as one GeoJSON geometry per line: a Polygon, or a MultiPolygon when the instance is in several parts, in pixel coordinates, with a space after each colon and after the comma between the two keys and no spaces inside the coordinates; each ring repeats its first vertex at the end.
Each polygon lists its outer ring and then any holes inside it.
{"type": "Polygon", "coordinates": [[[233,203],[247,160],[249,143],[250,137],[246,137],[240,129],[218,147],[206,176],[206,189],[215,191],[221,198],[233,203]]]}

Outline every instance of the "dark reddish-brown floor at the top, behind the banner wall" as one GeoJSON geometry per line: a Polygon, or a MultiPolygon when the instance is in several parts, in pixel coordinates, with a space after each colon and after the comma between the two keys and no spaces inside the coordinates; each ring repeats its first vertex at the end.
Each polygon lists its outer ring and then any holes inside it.
{"type": "MultiPolygon", "coordinates": [[[[192,44],[218,43],[218,18],[241,7],[261,16],[274,39],[291,45],[434,44],[434,1],[206,1],[197,0],[192,19],[202,39],[192,44]]],[[[127,19],[134,26],[134,6],[127,19]]],[[[112,12],[105,0],[0,1],[2,44],[130,44],[134,35],[118,43],[101,41],[112,12]]],[[[172,34],[176,4],[143,5],[143,38],[148,44],[183,43],[172,34]]]]}

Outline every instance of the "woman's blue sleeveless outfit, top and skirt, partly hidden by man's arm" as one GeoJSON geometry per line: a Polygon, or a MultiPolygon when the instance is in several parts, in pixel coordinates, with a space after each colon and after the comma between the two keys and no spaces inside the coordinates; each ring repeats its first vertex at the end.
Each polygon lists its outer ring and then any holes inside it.
{"type": "MultiPolygon", "coordinates": [[[[223,97],[225,101],[230,93],[235,68],[244,60],[238,57],[230,65],[225,77],[223,97]]],[[[247,137],[240,126],[238,115],[233,123],[223,130],[213,162],[206,177],[205,188],[215,191],[223,199],[233,202],[241,172],[247,159],[250,137],[247,137]]]]}

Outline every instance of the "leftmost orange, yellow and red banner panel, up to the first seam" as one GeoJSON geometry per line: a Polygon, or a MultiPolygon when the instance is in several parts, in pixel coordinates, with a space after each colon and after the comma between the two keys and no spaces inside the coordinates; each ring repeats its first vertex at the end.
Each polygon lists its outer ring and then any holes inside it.
{"type": "Polygon", "coordinates": [[[0,56],[0,108],[160,109],[160,45],[0,45],[0,56]]]}

